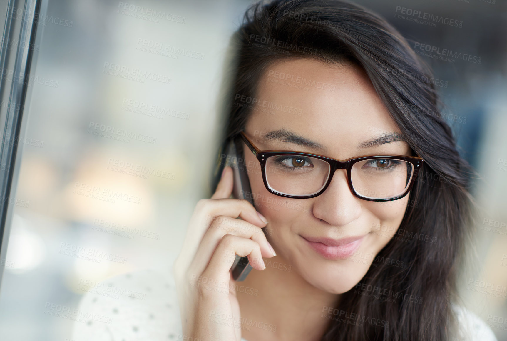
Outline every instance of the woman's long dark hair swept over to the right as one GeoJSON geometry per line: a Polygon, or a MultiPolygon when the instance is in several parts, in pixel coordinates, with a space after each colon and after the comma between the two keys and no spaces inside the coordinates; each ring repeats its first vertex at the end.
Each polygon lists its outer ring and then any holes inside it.
{"type": "Polygon", "coordinates": [[[407,143],[425,160],[396,237],[359,284],[341,295],[333,307],[340,314],[330,320],[322,340],[449,339],[457,329],[451,302],[457,301],[456,280],[473,219],[468,192],[472,169],[441,117],[429,67],[383,18],[339,0],[253,5],[231,46],[235,54],[224,94],[224,145],[244,128],[251,113],[248,106],[234,103],[235,98],[254,98],[267,66],[277,60],[315,58],[360,65],[407,143]],[[379,299],[379,288],[390,299],[379,299]],[[349,323],[354,320],[350,314],[360,317],[360,326],[349,323]],[[347,315],[350,321],[344,321],[347,315]],[[382,324],[375,322],[378,319],[382,324]]]}

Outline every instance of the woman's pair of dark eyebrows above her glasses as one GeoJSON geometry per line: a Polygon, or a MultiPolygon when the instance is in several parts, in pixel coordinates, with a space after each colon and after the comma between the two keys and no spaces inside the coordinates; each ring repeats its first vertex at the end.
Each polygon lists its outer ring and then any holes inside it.
{"type": "MultiPolygon", "coordinates": [[[[325,147],[318,142],[308,140],[301,135],[287,129],[272,130],[264,135],[266,141],[280,141],[286,143],[293,143],[298,146],[307,147],[310,149],[324,150],[325,147]]],[[[386,143],[406,141],[402,134],[397,132],[388,132],[370,141],[361,142],[357,145],[358,148],[378,147],[386,143]]]]}

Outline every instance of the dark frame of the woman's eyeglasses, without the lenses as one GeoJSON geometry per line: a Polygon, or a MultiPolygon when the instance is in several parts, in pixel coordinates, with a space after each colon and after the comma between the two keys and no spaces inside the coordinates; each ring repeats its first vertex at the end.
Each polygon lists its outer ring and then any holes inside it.
{"type": "Polygon", "coordinates": [[[309,154],[309,153],[303,153],[303,152],[294,152],[292,150],[259,150],[259,148],[257,148],[250,141],[250,139],[248,139],[248,137],[246,136],[246,134],[244,133],[244,131],[240,131],[239,135],[240,135],[241,139],[244,141],[244,143],[246,144],[246,146],[253,153],[253,155],[255,155],[257,157],[257,160],[259,160],[259,162],[261,163],[262,180],[264,181],[264,186],[266,186],[266,189],[270,193],[272,193],[272,194],[283,196],[283,197],[286,197],[286,198],[309,199],[309,198],[313,198],[313,197],[319,196],[320,194],[322,194],[328,188],[329,184],[331,184],[331,180],[333,180],[333,176],[335,175],[335,170],[337,170],[337,169],[346,169],[347,170],[347,182],[348,182],[348,186],[349,186],[350,190],[352,191],[352,193],[356,197],[358,197],[359,199],[368,200],[368,201],[391,201],[391,200],[397,200],[397,199],[403,198],[412,189],[412,187],[414,186],[414,183],[415,183],[415,179],[417,178],[417,173],[419,172],[419,169],[421,169],[422,166],[423,166],[423,164],[424,164],[424,160],[421,157],[418,157],[418,156],[405,156],[405,155],[366,155],[366,156],[360,156],[360,157],[353,157],[353,158],[350,158],[350,159],[347,159],[347,160],[336,160],[336,159],[333,159],[333,158],[330,158],[330,157],[327,157],[327,156],[323,156],[323,155],[319,155],[319,154],[309,154]],[[323,160],[323,161],[327,161],[330,164],[331,175],[328,177],[328,180],[325,183],[325,185],[322,187],[322,189],[320,191],[318,191],[317,193],[314,193],[314,194],[311,194],[311,195],[298,195],[298,196],[295,196],[295,195],[278,193],[278,192],[272,190],[271,188],[269,188],[268,181],[266,179],[266,171],[265,171],[265,169],[266,169],[266,161],[271,156],[285,155],[285,154],[307,156],[307,157],[313,157],[313,158],[317,158],[317,159],[320,159],[320,160],[323,160]],[[367,159],[371,159],[371,158],[403,160],[403,161],[410,162],[410,163],[412,163],[414,165],[412,179],[410,180],[410,184],[407,187],[407,189],[405,190],[405,192],[403,192],[403,194],[401,194],[399,196],[396,196],[394,198],[385,198],[385,199],[378,199],[377,198],[377,199],[375,199],[375,198],[368,198],[368,197],[361,196],[360,194],[358,194],[354,190],[354,187],[352,186],[352,180],[351,180],[352,179],[352,177],[351,177],[352,166],[356,162],[367,160],[367,159]]]}

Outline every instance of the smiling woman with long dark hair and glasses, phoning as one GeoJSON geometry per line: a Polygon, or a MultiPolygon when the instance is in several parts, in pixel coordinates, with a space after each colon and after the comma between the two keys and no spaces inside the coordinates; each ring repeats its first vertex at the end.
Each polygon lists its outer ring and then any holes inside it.
{"type": "Polygon", "coordinates": [[[469,170],[400,33],[350,3],[276,0],[234,38],[224,146],[255,207],[230,198],[230,167],[198,202],[174,264],[183,339],[495,340],[456,297],[469,170]]]}

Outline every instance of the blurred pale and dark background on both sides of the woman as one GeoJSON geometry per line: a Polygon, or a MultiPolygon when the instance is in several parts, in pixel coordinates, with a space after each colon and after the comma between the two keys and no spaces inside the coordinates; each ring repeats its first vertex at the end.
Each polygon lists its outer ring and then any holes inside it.
{"type": "MultiPolygon", "coordinates": [[[[78,306],[83,281],[170,274],[196,202],[210,195],[223,63],[251,3],[43,2],[2,259],[0,340],[69,339],[73,322],[43,311],[47,302],[78,306]]],[[[472,187],[477,262],[461,293],[505,340],[507,2],[355,3],[384,16],[434,70],[460,152],[480,175],[472,187]],[[480,59],[435,59],[426,45],[480,59]],[[480,283],[500,289],[477,292],[480,283]]],[[[1,11],[7,6],[0,1],[1,11]]]]}

